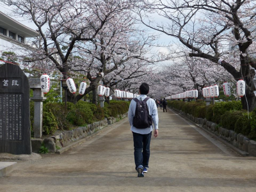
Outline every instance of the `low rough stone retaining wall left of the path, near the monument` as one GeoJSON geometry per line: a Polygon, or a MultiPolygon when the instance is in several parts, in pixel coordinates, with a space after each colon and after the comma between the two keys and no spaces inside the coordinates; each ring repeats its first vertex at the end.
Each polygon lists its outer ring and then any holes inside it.
{"type": "Polygon", "coordinates": [[[114,124],[117,120],[125,118],[127,113],[124,115],[118,115],[117,118],[111,116],[109,118],[105,118],[99,122],[94,122],[93,124],[88,124],[84,127],[77,127],[71,131],[63,131],[60,134],[54,134],[50,138],[42,139],[32,139],[32,151],[38,153],[42,143],[44,143],[45,147],[48,148],[49,152],[55,153],[56,150],[66,147],[70,145],[70,143],[74,141],[81,140],[82,138],[86,138],[86,136],[92,135],[94,132],[99,131],[100,129],[104,129],[108,125],[114,124]]]}

